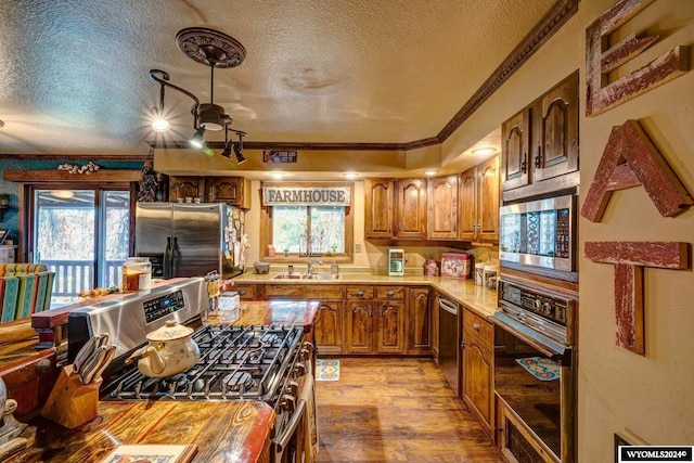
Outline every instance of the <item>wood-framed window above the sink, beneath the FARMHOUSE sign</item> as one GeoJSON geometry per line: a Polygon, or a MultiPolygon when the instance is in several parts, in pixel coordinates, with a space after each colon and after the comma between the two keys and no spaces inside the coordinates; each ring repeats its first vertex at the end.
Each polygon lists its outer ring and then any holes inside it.
{"type": "MultiPolygon", "coordinates": [[[[334,185],[335,183],[311,183],[334,185]]],[[[285,183],[285,185],[295,185],[285,183]]],[[[351,207],[335,205],[282,205],[265,207],[261,221],[264,257],[272,245],[278,258],[301,260],[309,257],[351,258],[351,207]]]]}

